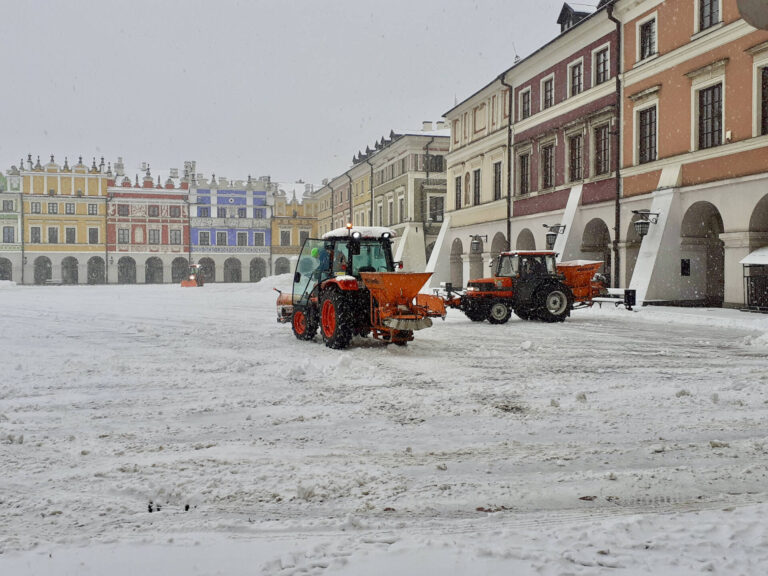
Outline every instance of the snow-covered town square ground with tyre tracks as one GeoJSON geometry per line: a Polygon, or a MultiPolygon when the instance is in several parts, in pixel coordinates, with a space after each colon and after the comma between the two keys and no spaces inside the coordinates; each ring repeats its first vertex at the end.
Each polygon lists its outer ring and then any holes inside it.
{"type": "Polygon", "coordinates": [[[0,284],[0,574],[765,574],[767,317],[334,351],[289,282],[0,284]]]}

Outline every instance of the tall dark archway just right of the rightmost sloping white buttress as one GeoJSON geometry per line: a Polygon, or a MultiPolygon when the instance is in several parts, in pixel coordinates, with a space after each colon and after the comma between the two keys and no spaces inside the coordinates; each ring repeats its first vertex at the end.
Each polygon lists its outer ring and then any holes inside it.
{"type": "MultiPolygon", "coordinates": [[[[688,260],[682,276],[682,299],[722,306],[725,294],[725,247],[720,240],[723,218],[709,202],[696,202],[685,212],[680,227],[680,257],[688,260]]],[[[682,268],[682,266],[681,266],[682,268]]]]}

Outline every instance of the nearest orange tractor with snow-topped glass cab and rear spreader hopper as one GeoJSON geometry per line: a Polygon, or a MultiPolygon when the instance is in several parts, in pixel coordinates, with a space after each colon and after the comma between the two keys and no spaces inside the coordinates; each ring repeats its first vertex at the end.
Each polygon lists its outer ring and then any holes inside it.
{"type": "Polygon", "coordinates": [[[346,348],[352,337],[371,334],[386,343],[405,345],[416,330],[445,317],[441,298],[416,295],[431,273],[395,272],[386,228],[339,228],[321,239],[304,241],[291,294],[277,299],[278,322],[290,322],[299,340],[318,330],[329,348],[346,348]]]}

